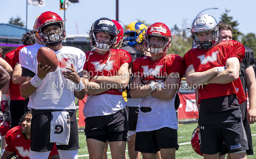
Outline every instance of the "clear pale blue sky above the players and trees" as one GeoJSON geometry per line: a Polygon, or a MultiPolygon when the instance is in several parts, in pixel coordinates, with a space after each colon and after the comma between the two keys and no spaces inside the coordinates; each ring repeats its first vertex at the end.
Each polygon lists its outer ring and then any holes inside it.
{"type": "MultiPolygon", "coordinates": [[[[45,11],[53,11],[64,18],[64,11],[59,9],[59,0],[45,0],[44,7],[28,5],[28,29],[33,28],[35,18],[45,11]]],[[[116,0],[79,0],[66,10],[67,34],[87,34],[95,20],[106,17],[115,19],[116,0]]],[[[205,11],[215,17],[217,22],[226,9],[231,10],[229,16],[237,20],[239,31],[244,34],[256,33],[256,1],[255,0],[119,0],[119,22],[128,25],[137,19],[147,23],[163,22],[170,29],[177,24],[181,27],[187,19],[187,27],[195,16],[206,8],[217,7],[205,11]]],[[[26,0],[0,0],[0,23],[8,23],[11,16],[19,15],[26,22],[26,0]]]]}

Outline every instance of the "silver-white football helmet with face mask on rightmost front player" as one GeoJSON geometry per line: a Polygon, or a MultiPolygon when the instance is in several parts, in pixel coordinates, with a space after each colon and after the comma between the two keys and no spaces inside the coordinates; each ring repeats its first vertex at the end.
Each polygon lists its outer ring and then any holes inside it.
{"type": "Polygon", "coordinates": [[[219,41],[219,26],[215,18],[208,14],[198,15],[191,26],[191,37],[195,41],[199,49],[210,49],[215,46],[219,41]],[[208,40],[200,41],[198,38],[199,33],[212,31],[212,37],[208,40]]]}

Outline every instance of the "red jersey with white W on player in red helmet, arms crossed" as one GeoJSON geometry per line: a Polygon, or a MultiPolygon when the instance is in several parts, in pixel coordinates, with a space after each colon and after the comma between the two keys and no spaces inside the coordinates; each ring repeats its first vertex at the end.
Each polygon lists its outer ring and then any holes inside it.
{"type": "Polygon", "coordinates": [[[158,76],[167,77],[169,74],[171,77],[175,77],[176,73],[181,75],[181,79],[185,71],[184,60],[173,54],[165,55],[154,61],[149,56],[140,57],[132,65],[132,72],[139,77],[144,77],[143,80],[156,80],[158,76]]]}

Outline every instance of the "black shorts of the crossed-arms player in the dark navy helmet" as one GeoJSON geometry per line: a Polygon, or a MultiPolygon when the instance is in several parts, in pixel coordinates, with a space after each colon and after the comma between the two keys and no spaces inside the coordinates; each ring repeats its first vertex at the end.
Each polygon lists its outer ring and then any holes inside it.
{"type": "Polygon", "coordinates": [[[125,108],[115,114],[87,117],[85,121],[86,139],[95,139],[106,143],[113,141],[127,141],[128,114],[125,108]]]}

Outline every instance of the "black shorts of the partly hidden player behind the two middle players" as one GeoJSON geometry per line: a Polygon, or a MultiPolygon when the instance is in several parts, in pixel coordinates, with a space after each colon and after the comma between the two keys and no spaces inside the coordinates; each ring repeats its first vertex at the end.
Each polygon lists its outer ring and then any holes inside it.
{"type": "Polygon", "coordinates": [[[139,107],[128,106],[128,109],[129,109],[129,117],[128,117],[129,130],[135,131],[137,126],[137,121],[138,121],[138,115],[139,115],[139,107]]]}

